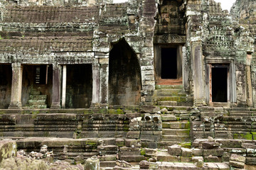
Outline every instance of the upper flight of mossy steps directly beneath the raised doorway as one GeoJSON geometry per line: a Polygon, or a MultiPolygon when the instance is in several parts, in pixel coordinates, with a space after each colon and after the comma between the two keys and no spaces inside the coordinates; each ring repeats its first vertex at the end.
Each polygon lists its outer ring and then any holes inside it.
{"type": "Polygon", "coordinates": [[[156,85],[154,104],[157,106],[193,106],[193,96],[188,96],[181,85],[156,85]]]}

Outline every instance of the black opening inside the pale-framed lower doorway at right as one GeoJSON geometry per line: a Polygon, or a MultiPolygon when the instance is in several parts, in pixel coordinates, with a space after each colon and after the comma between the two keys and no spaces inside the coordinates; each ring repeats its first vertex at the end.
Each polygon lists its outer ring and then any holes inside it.
{"type": "Polygon", "coordinates": [[[212,101],[228,101],[228,67],[212,67],[212,101]]]}

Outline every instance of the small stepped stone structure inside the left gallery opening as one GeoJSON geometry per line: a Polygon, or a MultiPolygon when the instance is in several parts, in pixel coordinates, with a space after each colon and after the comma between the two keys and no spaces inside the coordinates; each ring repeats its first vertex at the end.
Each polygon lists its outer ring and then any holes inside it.
{"type": "Polygon", "coordinates": [[[28,103],[24,108],[47,108],[46,105],[47,95],[41,94],[41,91],[31,91],[29,95],[28,103]]]}

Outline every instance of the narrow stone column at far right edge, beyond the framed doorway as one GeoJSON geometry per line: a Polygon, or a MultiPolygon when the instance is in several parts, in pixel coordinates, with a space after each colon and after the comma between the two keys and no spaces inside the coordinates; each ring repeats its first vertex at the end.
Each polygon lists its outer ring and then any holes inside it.
{"type": "Polygon", "coordinates": [[[251,62],[252,54],[247,54],[247,62],[245,66],[245,77],[246,77],[246,102],[248,107],[252,107],[252,77],[251,77],[251,62]]]}

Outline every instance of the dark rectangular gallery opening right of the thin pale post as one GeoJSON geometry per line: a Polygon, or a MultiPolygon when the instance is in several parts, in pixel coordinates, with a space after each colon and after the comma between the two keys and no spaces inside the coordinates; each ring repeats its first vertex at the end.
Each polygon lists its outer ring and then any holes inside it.
{"type": "Polygon", "coordinates": [[[67,65],[65,108],[90,108],[92,64],[67,65]]]}

